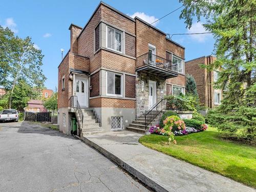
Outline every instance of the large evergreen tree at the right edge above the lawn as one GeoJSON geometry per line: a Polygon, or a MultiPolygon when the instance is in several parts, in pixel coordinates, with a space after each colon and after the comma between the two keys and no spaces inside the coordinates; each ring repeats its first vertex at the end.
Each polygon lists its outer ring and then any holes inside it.
{"type": "Polygon", "coordinates": [[[256,136],[256,63],[255,0],[180,0],[180,18],[188,28],[194,16],[205,18],[204,28],[216,39],[217,60],[207,69],[221,69],[217,89],[228,89],[222,104],[211,117],[216,126],[228,133],[256,136]],[[215,115],[217,114],[217,115],[215,115]],[[243,130],[243,131],[242,131],[243,130]]]}

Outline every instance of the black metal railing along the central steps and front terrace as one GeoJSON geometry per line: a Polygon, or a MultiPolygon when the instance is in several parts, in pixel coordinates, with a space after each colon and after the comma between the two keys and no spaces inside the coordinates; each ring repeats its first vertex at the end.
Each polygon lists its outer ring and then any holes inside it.
{"type": "Polygon", "coordinates": [[[183,103],[178,99],[161,99],[150,110],[144,113],[145,130],[147,126],[160,114],[163,110],[183,110],[183,103]]]}

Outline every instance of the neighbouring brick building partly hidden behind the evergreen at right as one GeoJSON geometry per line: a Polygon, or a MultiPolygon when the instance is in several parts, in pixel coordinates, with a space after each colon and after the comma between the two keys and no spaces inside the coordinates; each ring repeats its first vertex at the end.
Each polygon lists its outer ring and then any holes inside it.
{"type": "Polygon", "coordinates": [[[216,57],[202,56],[185,62],[185,73],[192,75],[197,83],[197,92],[200,102],[208,108],[213,108],[221,103],[222,90],[214,89],[214,81],[218,79],[218,71],[207,71],[200,65],[208,66],[214,62],[216,57]]]}

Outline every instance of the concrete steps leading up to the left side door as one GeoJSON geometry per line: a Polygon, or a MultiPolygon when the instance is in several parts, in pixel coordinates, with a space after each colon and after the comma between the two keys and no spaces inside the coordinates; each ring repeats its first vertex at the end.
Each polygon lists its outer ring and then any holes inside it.
{"type": "Polygon", "coordinates": [[[80,137],[82,138],[85,134],[92,134],[102,132],[102,127],[100,126],[97,115],[95,114],[93,109],[83,108],[83,122],[80,127],[80,137]]]}

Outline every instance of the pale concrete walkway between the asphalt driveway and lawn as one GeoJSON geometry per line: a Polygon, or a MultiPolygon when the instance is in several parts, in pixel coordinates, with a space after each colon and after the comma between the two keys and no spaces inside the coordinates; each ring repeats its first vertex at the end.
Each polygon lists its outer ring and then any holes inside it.
{"type": "Polygon", "coordinates": [[[83,140],[156,191],[256,191],[239,182],[151,150],[138,142],[141,136],[122,131],[86,135],[83,140]]]}

